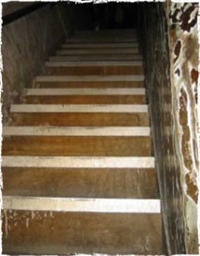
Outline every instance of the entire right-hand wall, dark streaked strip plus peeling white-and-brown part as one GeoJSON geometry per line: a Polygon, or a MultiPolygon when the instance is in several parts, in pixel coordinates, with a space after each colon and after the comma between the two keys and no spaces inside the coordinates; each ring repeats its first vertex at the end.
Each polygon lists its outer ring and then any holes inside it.
{"type": "Polygon", "coordinates": [[[145,83],[168,254],[198,252],[197,11],[196,4],[146,3],[140,7],[140,39],[145,43],[145,83]]]}

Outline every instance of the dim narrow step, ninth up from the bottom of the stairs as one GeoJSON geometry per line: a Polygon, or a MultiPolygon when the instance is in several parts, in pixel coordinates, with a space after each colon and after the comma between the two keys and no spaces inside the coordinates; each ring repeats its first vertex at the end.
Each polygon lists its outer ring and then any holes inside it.
{"type": "Polygon", "coordinates": [[[87,49],[59,49],[57,55],[90,55],[90,54],[132,54],[139,53],[138,48],[87,48],[87,49]]]}

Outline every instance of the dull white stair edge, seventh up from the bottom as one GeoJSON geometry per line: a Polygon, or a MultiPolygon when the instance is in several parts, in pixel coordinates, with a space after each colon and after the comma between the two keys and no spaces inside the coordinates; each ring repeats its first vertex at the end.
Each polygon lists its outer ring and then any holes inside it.
{"type": "Polygon", "coordinates": [[[47,61],[47,67],[143,66],[142,61],[47,61]]]}

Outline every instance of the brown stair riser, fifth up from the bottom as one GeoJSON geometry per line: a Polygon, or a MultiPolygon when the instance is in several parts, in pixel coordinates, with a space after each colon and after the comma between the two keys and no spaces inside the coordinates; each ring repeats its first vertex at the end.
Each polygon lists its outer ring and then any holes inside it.
{"type": "Polygon", "coordinates": [[[145,104],[143,95],[26,96],[26,104],[145,104]]]}

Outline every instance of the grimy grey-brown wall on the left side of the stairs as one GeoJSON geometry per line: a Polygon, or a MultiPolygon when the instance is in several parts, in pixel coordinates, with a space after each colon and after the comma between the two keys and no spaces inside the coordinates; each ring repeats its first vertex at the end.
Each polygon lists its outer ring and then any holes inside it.
{"type": "MultiPolygon", "coordinates": [[[[3,9],[6,7],[5,12],[10,13],[9,9],[22,7],[22,3],[16,7],[15,4],[3,4],[3,9]]],[[[21,101],[23,88],[32,86],[33,77],[71,27],[68,5],[59,4],[42,7],[2,28],[4,124],[9,123],[10,104],[21,101]]]]}

